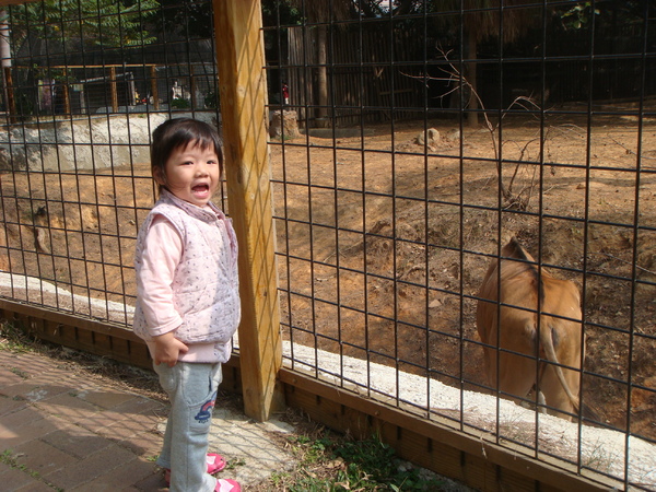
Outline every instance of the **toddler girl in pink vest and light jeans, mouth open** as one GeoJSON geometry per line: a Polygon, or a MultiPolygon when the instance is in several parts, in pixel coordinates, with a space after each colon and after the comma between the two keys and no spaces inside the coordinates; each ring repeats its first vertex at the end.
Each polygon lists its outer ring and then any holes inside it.
{"type": "Polygon", "coordinates": [[[160,198],[137,237],[133,329],[171,399],[157,465],[174,492],[238,492],[236,481],[211,475],[225,461],[208,454],[221,364],[241,316],[236,236],[210,201],[223,172],[219,136],[202,121],[167,120],[153,132],[151,169],[160,198]]]}

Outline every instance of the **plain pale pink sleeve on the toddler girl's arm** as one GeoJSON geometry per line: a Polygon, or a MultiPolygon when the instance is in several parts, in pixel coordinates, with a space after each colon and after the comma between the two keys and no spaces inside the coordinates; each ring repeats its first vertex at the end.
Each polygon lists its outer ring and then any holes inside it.
{"type": "Polygon", "coordinates": [[[144,239],[137,295],[152,337],[178,328],[183,319],[173,301],[173,279],[183,254],[183,239],[174,225],[157,215],[144,239]]]}

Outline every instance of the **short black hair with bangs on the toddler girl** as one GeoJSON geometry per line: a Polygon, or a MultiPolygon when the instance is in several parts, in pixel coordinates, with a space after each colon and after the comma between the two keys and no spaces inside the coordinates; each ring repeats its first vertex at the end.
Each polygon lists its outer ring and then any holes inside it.
{"type": "MultiPolygon", "coordinates": [[[[223,152],[216,130],[204,121],[192,118],[174,118],[164,121],[155,131],[151,144],[151,172],[166,183],[166,162],[171,154],[192,143],[201,150],[213,148],[219,157],[219,171],[223,176],[223,152]]],[[[163,185],[160,185],[162,190],[163,185]]]]}

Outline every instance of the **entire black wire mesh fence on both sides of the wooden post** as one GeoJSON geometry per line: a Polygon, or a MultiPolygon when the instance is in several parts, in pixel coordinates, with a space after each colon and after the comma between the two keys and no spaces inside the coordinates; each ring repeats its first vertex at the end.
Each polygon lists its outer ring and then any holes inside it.
{"type": "MultiPolygon", "coordinates": [[[[649,490],[655,12],[588,3],[262,2],[284,363],[649,490]]],[[[221,124],[212,13],[102,4],[5,8],[0,293],[129,325],[150,134],[221,124]]]]}

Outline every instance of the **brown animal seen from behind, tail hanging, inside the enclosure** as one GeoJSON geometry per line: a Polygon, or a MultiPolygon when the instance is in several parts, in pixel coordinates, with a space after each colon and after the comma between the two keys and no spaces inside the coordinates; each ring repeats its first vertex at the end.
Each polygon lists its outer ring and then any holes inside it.
{"type": "Polygon", "coordinates": [[[477,311],[488,383],[519,399],[536,387],[549,413],[577,413],[585,356],[578,289],[567,280],[553,278],[544,268],[538,270],[534,258],[514,237],[501,256],[501,276],[494,260],[485,273],[477,311]]]}

